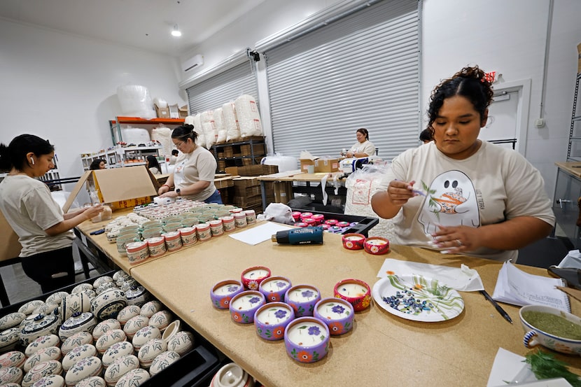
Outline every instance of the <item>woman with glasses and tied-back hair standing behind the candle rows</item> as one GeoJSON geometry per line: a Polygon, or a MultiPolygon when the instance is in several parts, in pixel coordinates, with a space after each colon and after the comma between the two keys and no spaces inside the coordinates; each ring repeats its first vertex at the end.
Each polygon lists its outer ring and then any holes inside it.
{"type": "Polygon", "coordinates": [[[160,197],[185,197],[206,203],[222,204],[220,192],[214,185],[216,159],[206,148],[197,145],[194,125],[182,125],[172,132],[172,141],[181,155],[176,161],[174,174],[160,187],[160,197]],[[172,187],[175,190],[170,191],[172,187]]]}

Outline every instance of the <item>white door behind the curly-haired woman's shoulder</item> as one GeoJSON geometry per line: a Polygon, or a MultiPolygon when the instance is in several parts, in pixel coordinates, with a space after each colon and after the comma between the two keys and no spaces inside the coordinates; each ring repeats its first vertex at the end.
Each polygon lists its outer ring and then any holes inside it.
{"type": "Polygon", "coordinates": [[[480,129],[479,139],[498,143],[506,148],[517,148],[519,128],[517,114],[519,110],[519,91],[504,90],[496,92],[489,106],[488,122],[480,129]],[[514,147],[513,147],[514,144],[514,147]]]}

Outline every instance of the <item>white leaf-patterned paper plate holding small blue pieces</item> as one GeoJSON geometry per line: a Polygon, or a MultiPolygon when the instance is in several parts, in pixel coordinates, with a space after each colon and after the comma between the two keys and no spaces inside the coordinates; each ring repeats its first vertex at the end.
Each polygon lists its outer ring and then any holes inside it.
{"type": "Polygon", "coordinates": [[[446,321],[462,313],[464,300],[460,293],[440,283],[418,274],[387,276],[375,283],[372,296],[379,307],[395,316],[413,321],[446,321]],[[399,300],[395,304],[391,297],[399,300]],[[424,307],[413,307],[406,300],[413,299],[414,304],[424,307]],[[393,305],[393,307],[392,307],[393,305]]]}

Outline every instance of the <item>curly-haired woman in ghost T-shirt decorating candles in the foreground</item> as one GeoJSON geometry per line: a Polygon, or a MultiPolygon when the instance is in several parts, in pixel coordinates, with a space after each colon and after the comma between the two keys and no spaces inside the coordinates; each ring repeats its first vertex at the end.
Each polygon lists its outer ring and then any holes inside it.
{"type": "Polygon", "coordinates": [[[551,232],[555,216],[540,172],[516,151],[478,139],[492,97],[477,66],[433,90],[433,141],[395,157],[387,189],[372,197],[381,218],[402,213],[398,243],[515,262],[519,248],[551,232]]]}

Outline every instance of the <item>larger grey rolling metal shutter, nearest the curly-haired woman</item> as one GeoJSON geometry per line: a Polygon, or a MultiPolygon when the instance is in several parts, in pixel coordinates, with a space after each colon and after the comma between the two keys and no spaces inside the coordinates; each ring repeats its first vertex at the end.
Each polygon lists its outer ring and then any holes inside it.
{"type": "Polygon", "coordinates": [[[381,1],[265,57],[276,152],[337,156],[359,127],[386,160],[418,146],[417,1],[381,1]]]}

